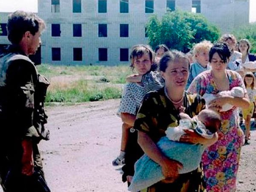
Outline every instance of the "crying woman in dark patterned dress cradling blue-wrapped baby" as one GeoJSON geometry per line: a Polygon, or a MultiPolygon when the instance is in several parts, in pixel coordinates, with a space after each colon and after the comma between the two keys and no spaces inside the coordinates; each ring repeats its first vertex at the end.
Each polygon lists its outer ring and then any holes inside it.
{"type": "MultiPolygon", "coordinates": [[[[165,136],[168,127],[178,125],[180,108],[183,108],[190,117],[205,108],[204,99],[197,94],[185,92],[189,59],[182,52],[168,51],[160,60],[160,73],[165,80],[165,87],[145,96],[134,123],[134,128],[138,130],[138,143],[145,154],[161,166],[165,177],[164,180],[145,190],[205,192],[203,172],[200,167],[192,172],[179,174],[178,170],[182,168],[182,164],[166,157],[156,145],[160,138],[165,136]]],[[[207,140],[193,131],[186,131],[181,141],[212,145],[217,138],[215,134],[212,139],[207,140]]]]}

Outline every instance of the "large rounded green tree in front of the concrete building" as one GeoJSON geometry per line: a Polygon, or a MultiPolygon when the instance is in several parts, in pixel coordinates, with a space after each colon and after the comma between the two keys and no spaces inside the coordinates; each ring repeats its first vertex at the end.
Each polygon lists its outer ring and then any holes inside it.
{"type": "Polygon", "coordinates": [[[166,12],[161,19],[152,15],[146,23],[151,47],[166,44],[170,49],[187,52],[200,41],[217,41],[220,30],[201,14],[176,10],[166,12]]]}

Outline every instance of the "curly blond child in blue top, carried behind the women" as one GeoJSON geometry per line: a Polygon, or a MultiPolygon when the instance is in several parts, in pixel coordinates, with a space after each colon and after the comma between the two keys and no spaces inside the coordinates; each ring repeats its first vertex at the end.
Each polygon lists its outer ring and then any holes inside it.
{"type": "Polygon", "coordinates": [[[195,63],[192,63],[189,69],[189,79],[186,86],[188,89],[189,85],[195,79],[198,74],[209,70],[209,51],[212,47],[212,43],[210,41],[202,41],[198,44],[195,44],[193,48],[193,58],[195,63]]]}

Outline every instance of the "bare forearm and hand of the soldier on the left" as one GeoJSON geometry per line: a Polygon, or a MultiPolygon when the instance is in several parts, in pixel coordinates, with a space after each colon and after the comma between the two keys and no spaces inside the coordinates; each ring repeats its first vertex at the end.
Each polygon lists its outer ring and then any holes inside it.
{"type": "Polygon", "coordinates": [[[23,148],[23,154],[21,158],[21,173],[23,175],[32,175],[34,172],[34,159],[32,141],[23,140],[21,142],[23,148]]]}

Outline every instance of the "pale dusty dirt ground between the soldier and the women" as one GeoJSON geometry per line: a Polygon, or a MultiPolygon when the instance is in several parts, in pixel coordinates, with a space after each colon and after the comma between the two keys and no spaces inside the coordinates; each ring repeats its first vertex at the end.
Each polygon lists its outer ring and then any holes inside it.
{"type": "MultiPolygon", "coordinates": [[[[111,165],[119,153],[119,100],[48,107],[51,140],[40,144],[52,192],[126,192],[121,172],[111,165]]],[[[238,191],[256,191],[256,131],[243,146],[238,191]]]]}

